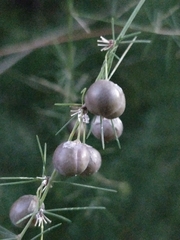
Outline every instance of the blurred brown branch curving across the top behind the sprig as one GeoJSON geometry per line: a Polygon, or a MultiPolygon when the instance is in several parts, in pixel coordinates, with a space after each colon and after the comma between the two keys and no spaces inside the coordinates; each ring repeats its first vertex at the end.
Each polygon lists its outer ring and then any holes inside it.
{"type": "MultiPolygon", "coordinates": [[[[115,32],[119,33],[119,27],[123,27],[125,25],[125,21],[119,21],[118,23],[115,22],[116,29],[115,32]]],[[[135,30],[135,31],[141,31],[141,32],[149,32],[149,33],[156,33],[158,35],[167,35],[167,36],[180,36],[180,30],[179,29],[170,29],[170,28],[161,28],[158,29],[157,32],[155,32],[155,29],[149,25],[141,26],[136,24],[131,24],[129,30],[135,30]]],[[[62,33],[61,33],[62,34],[62,33]]],[[[7,47],[0,48],[0,56],[6,56],[13,53],[19,53],[24,51],[31,51],[42,47],[47,47],[50,45],[54,45],[55,43],[61,44],[68,42],[68,35],[64,34],[61,36],[61,34],[52,34],[51,36],[46,37],[40,37],[37,39],[33,39],[28,42],[22,42],[20,44],[14,44],[7,47]]],[[[73,41],[79,41],[84,39],[90,39],[99,37],[101,35],[107,36],[112,34],[111,28],[101,28],[96,29],[94,31],[91,31],[91,33],[86,33],[84,31],[74,31],[73,33],[73,41]]]]}

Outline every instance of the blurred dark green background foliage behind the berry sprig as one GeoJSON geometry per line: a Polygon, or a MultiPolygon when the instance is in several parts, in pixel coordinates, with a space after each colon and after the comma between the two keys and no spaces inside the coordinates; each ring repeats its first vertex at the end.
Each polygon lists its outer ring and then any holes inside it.
{"type": "MultiPolygon", "coordinates": [[[[116,35],[138,1],[6,0],[0,1],[0,176],[41,176],[36,142],[47,143],[47,174],[56,146],[68,139],[68,107],[96,79],[105,53],[97,47],[102,35],[116,35]]],[[[124,90],[122,149],[115,141],[87,143],[100,150],[103,164],[88,178],[60,178],[112,188],[117,193],[56,184],[46,199],[54,207],[105,206],[106,210],[62,213],[72,220],[45,235],[61,240],[180,239],[180,3],[147,0],[128,33],[141,31],[112,80],[124,90]]],[[[126,44],[121,44],[121,56],[126,44]]],[[[38,184],[0,187],[0,225],[18,233],[8,214],[38,184]]],[[[52,219],[53,223],[59,222],[52,219]]],[[[38,233],[29,230],[26,239],[38,233]]]]}

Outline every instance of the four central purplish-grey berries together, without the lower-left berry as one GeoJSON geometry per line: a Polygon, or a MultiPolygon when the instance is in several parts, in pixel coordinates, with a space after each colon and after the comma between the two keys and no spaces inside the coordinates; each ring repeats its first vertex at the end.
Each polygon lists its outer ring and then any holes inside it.
{"type": "MultiPolygon", "coordinates": [[[[106,142],[117,139],[123,131],[119,116],[124,112],[125,105],[125,95],[117,84],[97,80],[87,90],[82,109],[77,111],[78,126],[88,122],[89,111],[95,114],[91,123],[92,134],[106,142]]],[[[99,170],[101,155],[95,148],[76,139],[61,143],[56,148],[53,165],[63,176],[91,175],[99,170]]]]}

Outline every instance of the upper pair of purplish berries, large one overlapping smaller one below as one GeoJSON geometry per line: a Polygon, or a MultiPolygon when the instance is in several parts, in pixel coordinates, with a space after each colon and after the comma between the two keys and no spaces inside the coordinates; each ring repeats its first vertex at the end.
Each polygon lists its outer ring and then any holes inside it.
{"type": "Polygon", "coordinates": [[[125,110],[126,99],[121,87],[112,81],[98,80],[88,89],[85,105],[95,118],[91,124],[92,134],[102,141],[117,139],[123,132],[119,119],[125,110]]]}

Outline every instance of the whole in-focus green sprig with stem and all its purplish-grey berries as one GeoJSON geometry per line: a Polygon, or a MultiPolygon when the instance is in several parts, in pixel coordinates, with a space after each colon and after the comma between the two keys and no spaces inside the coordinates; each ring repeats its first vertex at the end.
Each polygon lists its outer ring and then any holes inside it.
{"type": "MultiPolygon", "coordinates": [[[[115,139],[119,145],[118,138],[123,132],[123,124],[119,117],[126,108],[126,99],[122,88],[110,79],[131,46],[136,42],[137,33],[125,34],[143,3],[144,0],[140,0],[116,39],[113,28],[113,39],[107,40],[101,36],[100,40],[97,40],[98,46],[102,47],[101,51],[107,51],[105,60],[96,81],[89,87],[87,92],[82,91],[82,103],[74,105],[67,104],[69,106],[73,105],[73,107],[78,105],[78,109],[71,111],[73,112],[71,114],[72,119],[68,123],[72,124],[76,116],[77,120],[71,130],[69,139],[57,146],[53,153],[52,163],[54,170],[50,177],[47,177],[45,174],[46,147],[43,152],[38,142],[43,160],[43,171],[42,177],[37,177],[35,180],[41,180],[41,185],[37,189],[36,195],[24,195],[17,199],[9,213],[11,222],[17,227],[24,228],[18,235],[18,239],[21,240],[26,230],[31,226],[41,226],[41,236],[43,236],[44,224],[51,222],[44,214],[50,214],[52,211],[52,209],[51,211],[49,210],[49,212],[45,210],[44,200],[50,187],[53,185],[57,173],[66,177],[77,175],[89,176],[100,169],[102,159],[99,151],[86,144],[86,125],[89,123],[88,113],[94,115],[89,133],[92,133],[97,139],[101,140],[102,147],[105,147],[104,142],[115,139]],[[134,38],[131,41],[126,41],[126,43],[129,42],[129,45],[119,58],[116,55],[118,45],[123,39],[132,36],[134,36],[134,38]],[[118,61],[111,71],[114,59],[118,61]]],[[[112,23],[114,23],[114,20],[112,20],[112,23]]],[[[66,125],[68,125],[68,123],[66,125]]],[[[56,214],[53,214],[53,216],[56,216],[56,214]]]]}

